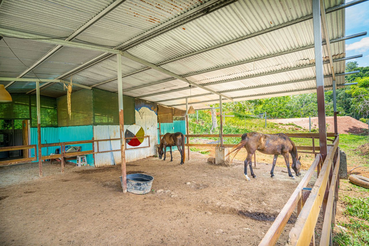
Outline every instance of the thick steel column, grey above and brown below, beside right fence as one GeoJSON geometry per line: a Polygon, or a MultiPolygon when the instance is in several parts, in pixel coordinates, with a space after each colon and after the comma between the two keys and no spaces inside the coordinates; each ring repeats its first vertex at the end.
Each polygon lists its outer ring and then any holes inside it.
{"type": "Polygon", "coordinates": [[[322,56],[322,34],[320,23],[320,1],[313,0],[313,27],[314,27],[314,48],[315,48],[315,74],[317,81],[318,99],[318,125],[319,125],[319,146],[320,154],[323,158],[327,156],[327,129],[325,125],[325,103],[324,103],[324,74],[322,56]]]}

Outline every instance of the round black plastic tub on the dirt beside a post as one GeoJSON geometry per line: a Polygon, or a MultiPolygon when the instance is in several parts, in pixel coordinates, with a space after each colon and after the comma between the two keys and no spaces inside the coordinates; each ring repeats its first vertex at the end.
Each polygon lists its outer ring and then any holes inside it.
{"type": "MultiPolygon", "coordinates": [[[[119,177],[123,186],[122,176],[119,177]]],[[[127,175],[127,191],[133,194],[146,194],[151,191],[151,185],[154,177],[142,173],[127,175]]]]}

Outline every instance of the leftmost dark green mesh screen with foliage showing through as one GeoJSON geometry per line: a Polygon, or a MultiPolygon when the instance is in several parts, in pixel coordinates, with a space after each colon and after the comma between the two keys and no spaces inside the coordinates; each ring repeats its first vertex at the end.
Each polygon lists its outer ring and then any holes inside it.
{"type": "MultiPolygon", "coordinates": [[[[0,119],[31,120],[37,127],[36,95],[12,94],[13,102],[0,103],[0,119]]],[[[40,96],[41,126],[58,126],[56,99],[40,96]]]]}

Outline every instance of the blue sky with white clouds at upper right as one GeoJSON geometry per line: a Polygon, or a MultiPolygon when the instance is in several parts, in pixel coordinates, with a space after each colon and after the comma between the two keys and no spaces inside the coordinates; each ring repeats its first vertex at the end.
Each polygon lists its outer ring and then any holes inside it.
{"type": "Polygon", "coordinates": [[[346,40],[346,57],[363,54],[362,58],[349,61],[357,61],[359,66],[369,66],[369,1],[346,8],[345,22],[346,36],[368,32],[366,36],[346,40]]]}

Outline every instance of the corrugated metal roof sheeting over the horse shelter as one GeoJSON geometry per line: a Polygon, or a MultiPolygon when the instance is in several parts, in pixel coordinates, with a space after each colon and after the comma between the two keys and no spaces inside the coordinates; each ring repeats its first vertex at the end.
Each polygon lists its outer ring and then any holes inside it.
{"type": "MultiPolygon", "coordinates": [[[[48,37],[68,36],[112,2],[59,1],[5,1],[0,9],[0,17],[14,14],[16,18],[1,20],[0,27],[48,37]],[[40,6],[37,9],[34,8],[36,4],[40,6]],[[35,18],[41,11],[44,14],[40,18],[35,18]],[[53,11],[54,15],[51,15],[53,11]],[[56,20],[55,13],[63,14],[66,18],[56,20]],[[46,14],[50,14],[51,17],[44,18],[46,14]]],[[[80,34],[78,39],[115,47],[205,2],[198,0],[125,1],[80,34]]],[[[344,3],[344,0],[325,0],[324,2],[325,8],[331,8],[344,3]]],[[[309,88],[316,86],[314,81],[315,57],[312,46],[314,44],[313,23],[311,19],[306,18],[311,13],[311,1],[305,0],[234,1],[199,18],[184,21],[182,25],[175,28],[168,28],[167,31],[128,48],[127,52],[184,76],[189,81],[235,97],[235,100],[245,100],[245,98],[237,97],[254,99],[310,92],[313,89],[309,90],[309,88]],[[285,25],[299,18],[305,19],[285,25]],[[268,28],[275,28],[279,25],[284,25],[284,27],[256,35],[258,32],[264,32],[268,28]],[[224,44],[225,42],[227,45],[224,44]],[[303,49],[294,50],[300,48],[303,49]],[[283,54],[279,54],[281,52],[283,54]],[[272,57],[265,58],[267,56],[272,57]],[[301,79],[310,80],[290,83],[301,79]],[[275,85],[282,82],[287,83],[275,85]],[[255,86],[264,87],[253,88],[255,86]]],[[[345,36],[344,17],[344,9],[327,13],[330,40],[345,36]]],[[[31,60],[27,66],[32,65],[53,47],[30,40],[14,42],[14,46],[19,46],[17,48],[19,51],[22,47],[29,51],[32,45],[37,46],[34,47],[35,51],[31,52],[30,57],[23,58],[31,60]],[[24,46],[22,46],[23,43],[24,46]],[[30,43],[31,47],[28,48],[25,43],[30,43]]],[[[4,49],[1,41],[0,48],[4,49]]],[[[344,58],[345,41],[332,43],[331,50],[334,59],[344,58]]],[[[45,76],[55,78],[100,54],[64,47],[46,59],[34,71],[42,78],[45,76]]],[[[327,61],[328,53],[325,46],[323,46],[323,57],[324,61],[327,61]]],[[[5,69],[1,69],[3,76],[13,74],[15,77],[17,73],[25,70],[25,68],[20,69],[20,65],[16,60],[12,60],[8,51],[7,55],[1,57],[1,61],[14,63],[14,69],[12,66],[4,66],[5,69]]],[[[125,57],[122,57],[122,67],[124,95],[143,98],[150,102],[168,100],[161,102],[163,105],[183,104],[185,99],[178,98],[190,95],[201,95],[189,99],[194,103],[218,100],[218,95],[208,95],[207,90],[197,87],[190,90],[188,83],[173,79],[154,69],[145,69],[145,65],[125,57]]],[[[77,72],[73,75],[73,81],[87,86],[106,82],[97,85],[96,88],[116,92],[116,69],[116,58],[113,56],[77,72]]],[[[334,69],[336,74],[343,73],[345,61],[334,62],[334,69]]],[[[331,69],[328,64],[325,64],[324,75],[330,74],[331,69]]],[[[27,76],[32,77],[33,75],[30,73],[27,76]]],[[[325,78],[324,83],[326,86],[332,85],[331,78],[325,78]]],[[[344,83],[344,77],[337,77],[337,83],[344,83]]],[[[17,87],[15,85],[14,89],[17,87]]],[[[54,97],[65,93],[61,90],[60,85],[53,85],[41,91],[43,95],[54,97]]],[[[196,107],[208,106],[196,104],[196,107]]]]}

